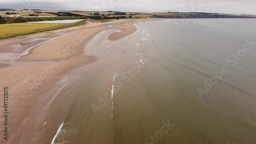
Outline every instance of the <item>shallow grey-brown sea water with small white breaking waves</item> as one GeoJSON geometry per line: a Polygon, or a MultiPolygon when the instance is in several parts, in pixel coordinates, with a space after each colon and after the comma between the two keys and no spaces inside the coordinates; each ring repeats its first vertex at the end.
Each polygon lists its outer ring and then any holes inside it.
{"type": "Polygon", "coordinates": [[[97,62],[73,71],[54,99],[51,116],[63,118],[52,117],[52,142],[255,143],[256,43],[246,41],[256,41],[256,20],[177,23],[142,22],[118,41],[106,39],[118,30],[95,36],[85,53],[97,62]]]}

